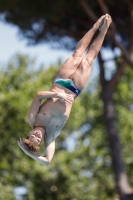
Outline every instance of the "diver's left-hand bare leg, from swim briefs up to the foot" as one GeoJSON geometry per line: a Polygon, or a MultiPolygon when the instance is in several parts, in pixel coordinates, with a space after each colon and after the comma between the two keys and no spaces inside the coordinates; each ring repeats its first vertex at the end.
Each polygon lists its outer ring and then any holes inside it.
{"type": "Polygon", "coordinates": [[[86,51],[89,43],[91,42],[91,39],[94,36],[95,32],[99,29],[104,17],[105,17],[105,15],[100,17],[99,20],[93,25],[92,29],[90,29],[84,35],[84,37],[79,41],[74,53],[63,64],[63,66],[57,72],[55,77],[60,77],[63,79],[68,79],[68,78],[72,77],[72,75],[77,70],[79,64],[81,63],[83,56],[84,56],[84,52],[86,51]]]}

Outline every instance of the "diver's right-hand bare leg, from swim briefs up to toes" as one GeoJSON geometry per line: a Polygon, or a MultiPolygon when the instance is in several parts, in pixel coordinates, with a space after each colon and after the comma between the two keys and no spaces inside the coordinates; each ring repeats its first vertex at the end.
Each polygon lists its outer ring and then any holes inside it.
{"type": "Polygon", "coordinates": [[[78,89],[82,90],[88,80],[90,75],[91,65],[95,57],[100,51],[102,46],[103,40],[105,38],[106,32],[109,28],[111,23],[111,17],[106,14],[104,18],[104,23],[99,30],[99,34],[97,38],[91,44],[86,56],[82,59],[78,69],[76,70],[75,74],[73,75],[73,82],[77,86],[78,89]]]}

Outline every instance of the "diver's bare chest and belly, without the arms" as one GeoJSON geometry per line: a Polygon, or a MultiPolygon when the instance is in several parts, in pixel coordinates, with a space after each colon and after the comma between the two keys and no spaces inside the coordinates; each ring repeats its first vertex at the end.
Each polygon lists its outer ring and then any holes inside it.
{"type": "MultiPolygon", "coordinates": [[[[76,97],[73,92],[56,83],[53,83],[50,91],[71,94],[73,101],[76,97]]],[[[40,106],[35,126],[43,126],[45,128],[45,145],[50,144],[58,137],[69,117],[73,101],[64,103],[57,98],[50,98],[40,106]]]]}

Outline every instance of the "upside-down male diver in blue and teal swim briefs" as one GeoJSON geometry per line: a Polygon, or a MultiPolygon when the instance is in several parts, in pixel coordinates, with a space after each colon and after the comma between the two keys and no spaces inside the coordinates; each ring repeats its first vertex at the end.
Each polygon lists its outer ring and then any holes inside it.
{"type": "Polygon", "coordinates": [[[111,21],[108,14],[103,15],[79,41],[72,56],[60,68],[50,91],[38,92],[33,99],[28,112],[28,122],[32,130],[26,139],[18,141],[18,145],[34,160],[44,165],[48,165],[52,160],[55,139],[69,117],[74,99],[88,80],[92,62],[100,51],[111,21]],[[98,35],[91,43],[96,31],[98,35]],[[87,48],[88,51],[84,55],[87,48]],[[42,99],[46,101],[41,104],[42,99]],[[45,149],[44,155],[40,156],[35,152],[39,150],[42,140],[45,149]]]}

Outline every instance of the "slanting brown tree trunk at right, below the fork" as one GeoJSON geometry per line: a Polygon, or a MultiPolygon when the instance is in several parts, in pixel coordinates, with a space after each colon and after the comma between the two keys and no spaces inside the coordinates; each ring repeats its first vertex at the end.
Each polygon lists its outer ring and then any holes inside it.
{"type": "Polygon", "coordinates": [[[108,133],[116,189],[118,191],[120,200],[133,200],[133,189],[130,188],[127,176],[124,172],[120,141],[115,126],[115,112],[112,92],[108,82],[104,82],[102,86],[102,99],[104,102],[104,120],[108,133]]]}

